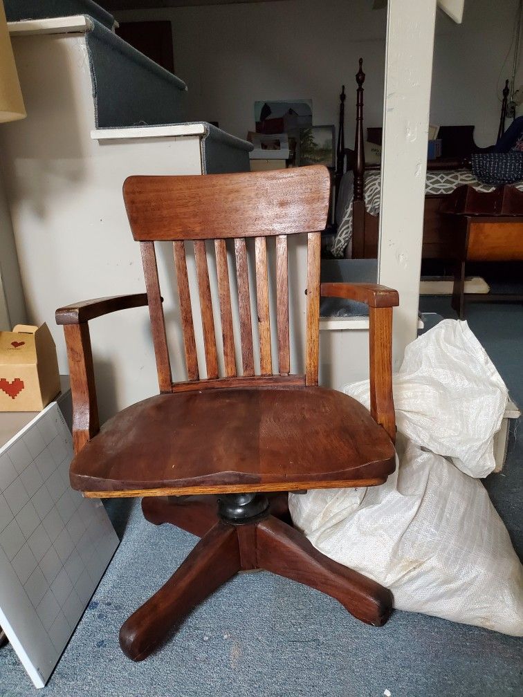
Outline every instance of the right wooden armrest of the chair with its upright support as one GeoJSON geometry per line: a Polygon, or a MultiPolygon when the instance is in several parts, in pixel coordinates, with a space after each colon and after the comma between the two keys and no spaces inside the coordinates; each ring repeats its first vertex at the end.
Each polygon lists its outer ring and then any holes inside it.
{"type": "Polygon", "coordinates": [[[392,391],[393,307],[400,304],[397,291],[366,283],[322,283],[324,297],[347,298],[369,306],[370,414],[395,441],[396,420],[392,391]]]}

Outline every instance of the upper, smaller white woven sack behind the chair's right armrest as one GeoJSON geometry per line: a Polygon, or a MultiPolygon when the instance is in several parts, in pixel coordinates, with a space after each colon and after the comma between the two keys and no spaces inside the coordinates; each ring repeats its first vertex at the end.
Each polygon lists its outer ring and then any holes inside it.
{"type": "MultiPolygon", "coordinates": [[[[343,391],[370,407],[368,380],[343,391]]],[[[409,344],[393,394],[397,430],[413,443],[451,457],[471,477],[494,470],[508,392],[467,322],[445,319],[409,344]]]]}

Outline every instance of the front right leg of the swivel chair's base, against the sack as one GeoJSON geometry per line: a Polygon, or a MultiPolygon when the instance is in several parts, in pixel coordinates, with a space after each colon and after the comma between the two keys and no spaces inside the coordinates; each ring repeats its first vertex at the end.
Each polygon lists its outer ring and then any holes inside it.
{"type": "Polygon", "coordinates": [[[331,595],[367,625],[381,627],[391,616],[390,590],[321,554],[305,535],[273,516],[257,523],[256,549],[259,568],[331,595]]]}

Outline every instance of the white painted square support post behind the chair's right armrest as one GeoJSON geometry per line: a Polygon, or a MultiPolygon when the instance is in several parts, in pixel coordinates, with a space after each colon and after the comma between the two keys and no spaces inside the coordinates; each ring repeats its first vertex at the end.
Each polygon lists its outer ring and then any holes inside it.
{"type": "Polygon", "coordinates": [[[394,368],[416,338],[436,0],[388,0],[379,283],[400,293],[394,368]]]}

